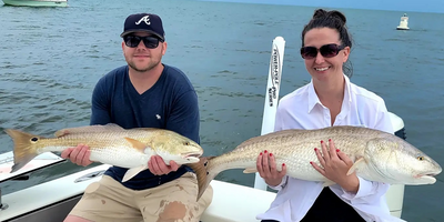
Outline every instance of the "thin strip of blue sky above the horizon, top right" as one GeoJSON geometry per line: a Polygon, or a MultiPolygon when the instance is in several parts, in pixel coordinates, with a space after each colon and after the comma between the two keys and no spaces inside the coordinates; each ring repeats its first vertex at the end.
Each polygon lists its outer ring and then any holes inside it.
{"type": "Polygon", "coordinates": [[[210,0],[210,1],[444,13],[444,0],[210,0]]]}

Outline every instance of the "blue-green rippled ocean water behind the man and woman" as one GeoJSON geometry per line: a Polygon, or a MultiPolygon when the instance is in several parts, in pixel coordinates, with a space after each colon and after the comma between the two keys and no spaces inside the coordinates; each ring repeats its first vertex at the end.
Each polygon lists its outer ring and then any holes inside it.
{"type": "MultiPolygon", "coordinates": [[[[208,155],[232,150],[261,132],[272,40],[285,39],[281,97],[310,81],[301,31],[314,8],[205,1],[70,0],[68,8],[0,6],[0,152],[12,150],[2,132],[21,129],[51,137],[89,123],[90,98],[103,74],[124,64],[119,34],[130,13],[163,19],[163,62],[182,69],[201,109],[208,155]]],[[[404,120],[407,141],[444,165],[444,14],[340,9],[354,39],[352,81],[383,97],[404,120]]],[[[65,162],[29,181],[1,184],[13,192],[82,169],[65,162]]],[[[254,175],[225,171],[219,180],[253,185],[254,175]]],[[[433,185],[406,186],[402,218],[443,221],[444,174],[433,185]]]]}

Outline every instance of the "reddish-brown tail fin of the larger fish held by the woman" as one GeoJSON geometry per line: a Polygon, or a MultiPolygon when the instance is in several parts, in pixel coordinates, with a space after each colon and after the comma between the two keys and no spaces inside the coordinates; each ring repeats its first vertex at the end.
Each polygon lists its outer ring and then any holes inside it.
{"type": "Polygon", "coordinates": [[[211,164],[211,159],[213,159],[214,157],[201,157],[199,159],[199,162],[196,163],[188,163],[186,165],[190,167],[191,169],[193,169],[193,171],[195,172],[195,175],[198,178],[198,188],[199,188],[199,192],[198,192],[198,199],[196,201],[199,201],[199,199],[202,196],[203,192],[206,190],[206,188],[209,186],[210,182],[215,178],[215,175],[218,173],[210,173],[208,171],[209,165],[211,164]]]}

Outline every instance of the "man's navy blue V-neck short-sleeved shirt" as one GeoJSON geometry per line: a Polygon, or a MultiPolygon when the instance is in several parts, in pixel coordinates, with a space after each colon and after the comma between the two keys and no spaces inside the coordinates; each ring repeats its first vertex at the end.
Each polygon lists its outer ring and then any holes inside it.
{"type": "MultiPolygon", "coordinates": [[[[102,77],[92,93],[90,124],[117,123],[124,129],[168,129],[200,143],[200,117],[194,88],[181,70],[163,65],[159,80],[142,94],[132,85],[128,65],[102,77]]],[[[121,182],[127,171],[111,167],[104,174],[121,182]]],[[[189,167],[182,165],[176,172],[159,176],[144,170],[121,183],[129,189],[143,190],[172,181],[188,171],[192,172],[189,167]]]]}

